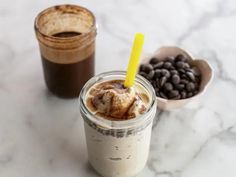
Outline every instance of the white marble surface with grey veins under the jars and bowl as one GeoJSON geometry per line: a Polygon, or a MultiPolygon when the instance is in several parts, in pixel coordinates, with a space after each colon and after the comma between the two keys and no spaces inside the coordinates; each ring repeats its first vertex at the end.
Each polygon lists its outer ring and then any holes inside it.
{"type": "Polygon", "coordinates": [[[235,177],[235,0],[1,0],[0,177],[98,176],[87,163],[77,101],[45,88],[33,31],[39,11],[65,2],[96,14],[97,73],[126,69],[137,31],[145,52],[178,45],[215,69],[204,97],[157,115],[138,177],[235,177]]]}

